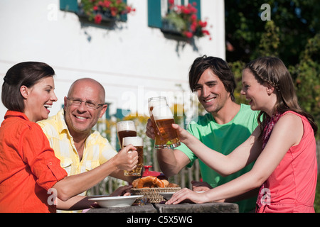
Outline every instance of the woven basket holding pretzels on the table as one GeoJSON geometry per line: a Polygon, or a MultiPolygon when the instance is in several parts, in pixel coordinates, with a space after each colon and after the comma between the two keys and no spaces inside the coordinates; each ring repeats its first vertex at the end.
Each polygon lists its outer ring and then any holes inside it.
{"type": "MultiPolygon", "coordinates": [[[[133,195],[144,195],[140,200],[148,201],[151,204],[159,204],[161,201],[166,201],[159,192],[178,192],[181,187],[152,187],[148,189],[131,189],[133,195]]],[[[137,201],[136,201],[137,202],[137,201]]]]}

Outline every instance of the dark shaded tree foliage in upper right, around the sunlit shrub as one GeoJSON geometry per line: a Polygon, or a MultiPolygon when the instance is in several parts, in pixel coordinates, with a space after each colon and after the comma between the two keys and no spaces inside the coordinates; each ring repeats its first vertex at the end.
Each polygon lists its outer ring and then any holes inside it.
{"type": "Polygon", "coordinates": [[[269,4],[271,21],[279,28],[277,55],[285,65],[297,65],[309,38],[320,31],[318,0],[225,0],[225,38],[233,45],[227,61],[249,62],[260,56],[265,23],[262,4],[269,4]]]}

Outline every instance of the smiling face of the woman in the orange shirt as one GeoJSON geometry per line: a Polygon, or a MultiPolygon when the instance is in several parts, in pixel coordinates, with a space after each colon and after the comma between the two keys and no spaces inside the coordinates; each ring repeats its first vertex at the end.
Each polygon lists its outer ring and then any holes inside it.
{"type": "Polygon", "coordinates": [[[24,114],[30,121],[36,122],[48,118],[48,110],[53,102],[57,101],[54,93],[55,84],[53,77],[45,77],[32,87],[21,86],[21,94],[24,97],[24,114]]]}

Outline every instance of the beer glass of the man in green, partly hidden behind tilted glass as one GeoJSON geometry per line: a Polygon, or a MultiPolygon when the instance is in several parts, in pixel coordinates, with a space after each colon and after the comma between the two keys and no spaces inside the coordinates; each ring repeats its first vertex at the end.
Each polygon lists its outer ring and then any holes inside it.
{"type": "Polygon", "coordinates": [[[149,109],[150,119],[152,122],[152,127],[154,128],[154,131],[156,134],[154,138],[154,148],[156,149],[166,148],[166,141],[160,135],[158,127],[156,127],[156,122],[154,121],[154,116],[152,115],[152,110],[154,109],[154,106],[161,106],[161,105],[168,105],[166,101],[166,97],[159,96],[159,97],[151,97],[148,99],[148,109],[149,109]]]}

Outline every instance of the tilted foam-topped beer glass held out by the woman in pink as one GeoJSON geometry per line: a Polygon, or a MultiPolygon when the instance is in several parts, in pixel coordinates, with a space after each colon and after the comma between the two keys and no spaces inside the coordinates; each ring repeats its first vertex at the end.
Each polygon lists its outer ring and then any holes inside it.
{"type": "Polygon", "coordinates": [[[174,123],[174,115],[169,106],[154,106],[152,115],[161,137],[165,140],[166,148],[173,149],[181,145],[176,129],[171,126],[174,123]]]}

